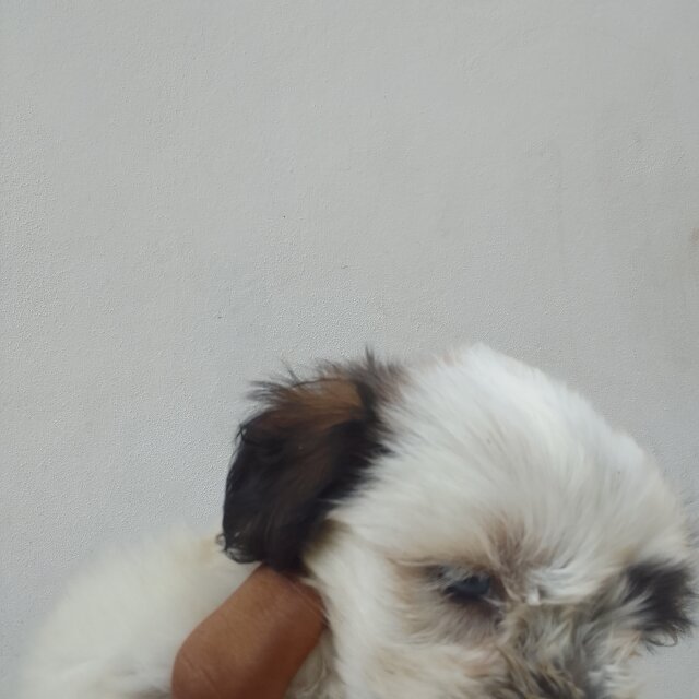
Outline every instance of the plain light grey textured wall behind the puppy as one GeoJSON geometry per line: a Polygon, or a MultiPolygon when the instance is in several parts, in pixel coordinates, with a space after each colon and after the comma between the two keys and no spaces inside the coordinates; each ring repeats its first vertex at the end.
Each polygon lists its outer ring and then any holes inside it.
{"type": "Polygon", "coordinates": [[[217,521],[283,360],[485,341],[699,514],[696,0],[0,7],[2,697],[85,560],[217,521]]]}

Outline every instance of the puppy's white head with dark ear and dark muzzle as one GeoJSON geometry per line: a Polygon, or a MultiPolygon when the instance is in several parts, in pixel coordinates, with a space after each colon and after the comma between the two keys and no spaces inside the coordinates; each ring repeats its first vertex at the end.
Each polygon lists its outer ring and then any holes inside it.
{"type": "Polygon", "coordinates": [[[269,384],[226,547],[305,567],[348,697],[625,699],[689,627],[684,518],[579,396],[486,348],[269,384]]]}

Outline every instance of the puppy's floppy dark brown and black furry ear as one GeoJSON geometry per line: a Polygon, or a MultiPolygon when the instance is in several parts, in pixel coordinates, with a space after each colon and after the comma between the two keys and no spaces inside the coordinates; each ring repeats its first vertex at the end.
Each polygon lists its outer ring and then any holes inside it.
{"type": "Polygon", "coordinates": [[[382,451],[378,408],[394,374],[367,356],[328,365],[312,380],[258,387],[261,407],[240,428],[226,482],[223,538],[232,558],[299,567],[324,516],[382,451]]]}

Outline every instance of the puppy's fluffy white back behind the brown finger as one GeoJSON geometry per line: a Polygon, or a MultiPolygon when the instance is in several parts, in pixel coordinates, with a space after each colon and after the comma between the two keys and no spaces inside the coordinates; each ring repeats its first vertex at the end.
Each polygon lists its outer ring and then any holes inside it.
{"type": "Polygon", "coordinates": [[[169,696],[188,633],[249,574],[215,537],[177,532],[98,561],[75,580],[35,641],[27,699],[169,696]]]}

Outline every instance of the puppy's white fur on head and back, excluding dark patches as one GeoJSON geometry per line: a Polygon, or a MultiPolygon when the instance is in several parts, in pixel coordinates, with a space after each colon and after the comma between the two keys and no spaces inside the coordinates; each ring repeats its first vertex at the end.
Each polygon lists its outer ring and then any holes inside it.
{"type": "MultiPolygon", "coordinates": [[[[518,653],[555,664],[583,632],[594,682],[632,696],[632,609],[593,630],[571,619],[600,590],[614,597],[629,566],[689,560],[653,460],[560,383],[481,346],[408,370],[382,411],[391,453],[306,555],[331,632],[289,697],[506,697],[493,683],[518,653]],[[425,571],[445,565],[498,576],[497,629],[430,588],[425,571]]],[[[181,535],[96,568],[34,645],[24,699],[169,696],[179,644],[249,570],[181,535]]]]}

